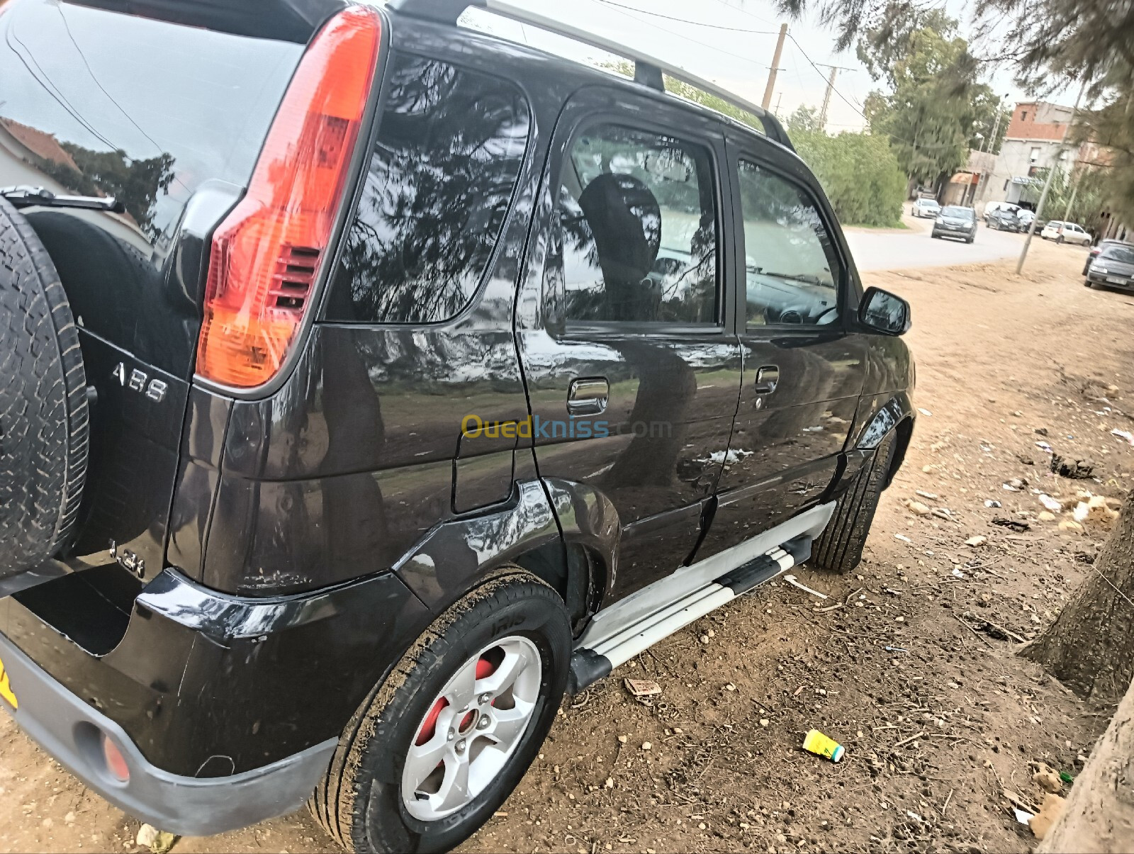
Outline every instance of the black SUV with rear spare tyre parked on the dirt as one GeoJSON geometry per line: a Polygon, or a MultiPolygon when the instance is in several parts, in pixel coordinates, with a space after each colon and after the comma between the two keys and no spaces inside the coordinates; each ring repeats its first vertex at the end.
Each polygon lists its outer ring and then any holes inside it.
{"type": "Polygon", "coordinates": [[[0,705],[160,828],[457,844],[909,441],[773,117],[466,5],[0,6],[0,705]]]}

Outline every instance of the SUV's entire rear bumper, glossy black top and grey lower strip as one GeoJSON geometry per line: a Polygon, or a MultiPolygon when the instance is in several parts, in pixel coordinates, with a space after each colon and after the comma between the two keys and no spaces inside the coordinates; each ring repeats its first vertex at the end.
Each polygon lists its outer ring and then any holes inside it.
{"type": "Polygon", "coordinates": [[[18,702],[0,705],[90,788],[181,835],[299,806],[350,716],[430,619],[392,573],[242,599],[167,569],[100,649],[83,592],[98,572],[0,599],[0,660],[18,702]],[[128,783],[108,772],[100,734],[125,756],[128,783]]]}

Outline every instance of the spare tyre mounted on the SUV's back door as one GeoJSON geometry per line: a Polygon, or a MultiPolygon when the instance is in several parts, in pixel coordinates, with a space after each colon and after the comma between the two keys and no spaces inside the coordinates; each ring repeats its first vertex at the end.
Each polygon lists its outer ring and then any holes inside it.
{"type": "Polygon", "coordinates": [[[0,198],[0,578],[66,544],[86,477],[86,373],[59,273],[0,198]]]}

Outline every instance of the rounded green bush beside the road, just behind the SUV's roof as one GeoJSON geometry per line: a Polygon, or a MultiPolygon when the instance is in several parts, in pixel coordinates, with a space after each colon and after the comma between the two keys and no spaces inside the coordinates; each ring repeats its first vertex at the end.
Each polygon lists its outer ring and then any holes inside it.
{"type": "Polygon", "coordinates": [[[902,222],[906,179],[885,136],[828,136],[819,129],[815,110],[805,107],[788,119],[788,133],[799,157],[823,185],[839,221],[881,227],[902,222]]]}

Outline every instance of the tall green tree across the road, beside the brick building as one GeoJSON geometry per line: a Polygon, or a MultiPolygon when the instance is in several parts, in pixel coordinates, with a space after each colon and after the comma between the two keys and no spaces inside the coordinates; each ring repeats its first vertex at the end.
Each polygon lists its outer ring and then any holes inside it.
{"type": "Polygon", "coordinates": [[[858,42],[858,57],[891,88],[866,98],[871,130],[890,137],[898,163],[919,183],[962,168],[970,146],[980,147],[973,145],[975,134],[991,135],[1001,109],[978,83],[976,61],[956,28],[953,18],[933,9],[870,29],[858,42]]]}

